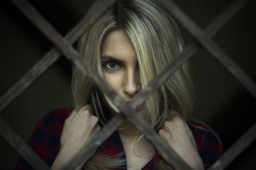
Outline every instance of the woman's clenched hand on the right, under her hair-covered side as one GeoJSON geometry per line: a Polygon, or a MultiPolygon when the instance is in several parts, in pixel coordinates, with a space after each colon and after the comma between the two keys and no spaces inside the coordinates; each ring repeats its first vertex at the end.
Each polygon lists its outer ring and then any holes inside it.
{"type": "MultiPolygon", "coordinates": [[[[163,129],[159,130],[159,135],[189,166],[193,169],[204,169],[191,130],[176,111],[172,110],[172,114],[174,115],[172,120],[164,122],[163,129]]],[[[168,163],[172,164],[172,162],[168,163]]]]}

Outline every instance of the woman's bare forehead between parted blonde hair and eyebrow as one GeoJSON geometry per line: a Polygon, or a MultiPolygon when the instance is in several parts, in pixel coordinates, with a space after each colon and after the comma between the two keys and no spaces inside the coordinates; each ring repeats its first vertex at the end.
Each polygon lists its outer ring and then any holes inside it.
{"type": "Polygon", "coordinates": [[[131,39],[124,30],[109,32],[102,43],[101,55],[118,59],[137,59],[131,39]]]}

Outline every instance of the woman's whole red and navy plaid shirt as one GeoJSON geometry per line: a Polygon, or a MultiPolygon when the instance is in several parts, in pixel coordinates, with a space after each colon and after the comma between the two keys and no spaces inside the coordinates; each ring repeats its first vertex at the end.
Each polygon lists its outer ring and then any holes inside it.
{"type": "MultiPolygon", "coordinates": [[[[54,110],[42,118],[36,125],[28,145],[51,167],[54,159],[60,151],[60,136],[63,129],[65,119],[68,117],[72,109],[54,110]]],[[[223,153],[223,146],[218,136],[210,127],[205,124],[189,120],[188,126],[193,132],[198,153],[203,160],[204,167],[211,166],[223,153]]],[[[120,159],[125,159],[124,147],[122,141],[115,131],[103,144],[102,150],[104,154],[117,155],[122,153],[120,159]]],[[[143,167],[143,170],[154,169],[154,165],[159,160],[158,153],[143,167]]],[[[33,169],[26,160],[20,157],[16,169],[33,169]]],[[[126,169],[126,166],[120,167],[126,169]]]]}

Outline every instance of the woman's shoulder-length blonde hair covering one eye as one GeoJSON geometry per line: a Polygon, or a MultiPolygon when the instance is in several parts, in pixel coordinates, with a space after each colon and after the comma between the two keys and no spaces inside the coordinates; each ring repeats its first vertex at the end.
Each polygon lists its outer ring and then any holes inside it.
{"type": "MultiPolygon", "coordinates": [[[[166,64],[179,57],[182,52],[183,41],[177,24],[156,1],[120,0],[84,32],[79,41],[79,53],[101,76],[102,41],[106,34],[120,29],[127,33],[134,46],[140,67],[142,89],[163,70],[166,64]]],[[[91,103],[95,114],[104,125],[107,118],[97,88],[79,69],[75,68],[73,73],[74,107],[78,111],[84,104],[91,103]]],[[[177,111],[185,120],[191,117],[193,83],[188,63],[183,64],[157,92],[147,99],[145,110],[143,117],[156,131],[161,128],[164,120],[170,117],[169,110],[177,111]]],[[[93,164],[93,159],[97,160],[100,157],[99,152],[93,157],[84,167],[89,166],[90,162],[93,164]]],[[[106,163],[103,157],[100,160],[102,160],[99,161],[101,164],[99,162],[93,164],[97,169],[103,169],[106,163]]],[[[109,162],[107,157],[106,160],[109,162]]],[[[122,161],[116,162],[116,159],[111,161],[115,166],[122,164],[122,161]]]]}

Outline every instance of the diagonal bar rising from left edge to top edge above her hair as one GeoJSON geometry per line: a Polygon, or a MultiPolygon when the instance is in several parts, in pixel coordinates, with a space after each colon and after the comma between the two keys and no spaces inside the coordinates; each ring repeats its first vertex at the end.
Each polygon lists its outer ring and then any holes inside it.
{"type": "MultiPolygon", "coordinates": [[[[73,44],[83,31],[93,24],[102,13],[111,6],[115,1],[104,0],[100,1],[97,6],[93,6],[92,10],[88,12],[82,20],[77,23],[73,29],[68,32],[65,39],[68,43],[73,44]]],[[[16,99],[24,90],[26,90],[33,81],[36,80],[45,70],[47,70],[56,60],[59,59],[61,53],[58,48],[54,47],[45,56],[40,59],[29,71],[20,78],[15,85],[13,85],[7,92],[1,96],[0,99],[0,113],[6,108],[14,99],[16,99]]]]}

